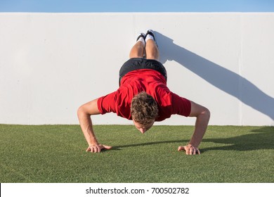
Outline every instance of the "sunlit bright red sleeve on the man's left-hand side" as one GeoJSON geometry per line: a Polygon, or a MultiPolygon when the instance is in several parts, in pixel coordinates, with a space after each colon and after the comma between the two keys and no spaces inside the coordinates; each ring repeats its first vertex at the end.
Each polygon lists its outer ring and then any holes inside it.
{"type": "Polygon", "coordinates": [[[101,114],[110,113],[110,112],[116,113],[116,108],[115,108],[116,94],[115,93],[116,91],[110,94],[107,94],[106,96],[102,96],[98,98],[97,106],[101,114]]]}

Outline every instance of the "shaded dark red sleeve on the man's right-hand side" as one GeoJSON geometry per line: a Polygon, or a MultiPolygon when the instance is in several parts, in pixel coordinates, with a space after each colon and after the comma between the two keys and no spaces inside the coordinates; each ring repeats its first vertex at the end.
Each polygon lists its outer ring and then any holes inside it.
{"type": "Polygon", "coordinates": [[[171,93],[172,114],[189,116],[191,110],[191,103],[188,99],[171,93]]]}

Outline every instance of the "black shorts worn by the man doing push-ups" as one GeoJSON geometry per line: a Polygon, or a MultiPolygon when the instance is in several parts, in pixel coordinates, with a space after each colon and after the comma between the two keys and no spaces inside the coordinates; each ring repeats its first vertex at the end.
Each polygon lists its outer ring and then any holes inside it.
{"type": "Polygon", "coordinates": [[[145,58],[130,58],[128,61],[122,65],[119,71],[119,84],[122,80],[122,77],[128,72],[139,69],[152,69],[160,72],[164,78],[167,80],[167,70],[164,68],[164,65],[159,61],[145,59],[145,58]]]}

